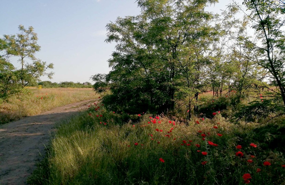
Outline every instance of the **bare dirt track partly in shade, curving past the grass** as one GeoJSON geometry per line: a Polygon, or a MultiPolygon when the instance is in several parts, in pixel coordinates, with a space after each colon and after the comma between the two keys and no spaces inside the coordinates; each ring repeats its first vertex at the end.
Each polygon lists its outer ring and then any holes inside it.
{"type": "Polygon", "coordinates": [[[0,184],[27,184],[36,162],[45,155],[54,123],[68,119],[95,101],[84,100],[0,125],[0,184]]]}

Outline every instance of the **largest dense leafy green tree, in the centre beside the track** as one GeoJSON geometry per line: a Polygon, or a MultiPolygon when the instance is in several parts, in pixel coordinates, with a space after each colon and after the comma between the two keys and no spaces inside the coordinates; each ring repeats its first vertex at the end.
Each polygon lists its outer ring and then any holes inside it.
{"type": "Polygon", "coordinates": [[[112,71],[93,76],[95,90],[110,87],[103,101],[128,112],[162,112],[193,96],[207,62],[200,49],[213,33],[213,15],[204,7],[214,2],[138,0],[141,15],[107,24],[106,41],[117,43],[109,60],[112,71]]]}

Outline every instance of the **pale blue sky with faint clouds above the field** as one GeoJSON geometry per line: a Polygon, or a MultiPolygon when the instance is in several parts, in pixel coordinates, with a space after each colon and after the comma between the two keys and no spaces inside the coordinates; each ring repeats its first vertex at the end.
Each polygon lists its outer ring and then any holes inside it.
{"type": "MultiPolygon", "coordinates": [[[[117,17],[136,16],[141,9],[136,0],[2,0],[0,37],[19,33],[22,24],[34,28],[41,50],[36,57],[53,63],[52,82],[91,82],[97,73],[108,73],[107,60],[115,43],[106,43],[106,24],[117,17]]],[[[242,0],[237,0],[241,3],[242,0]]],[[[231,0],[220,0],[207,11],[220,13],[231,0]]],[[[20,67],[16,58],[10,59],[20,67]]],[[[50,71],[48,71],[50,72],[50,71]]]]}

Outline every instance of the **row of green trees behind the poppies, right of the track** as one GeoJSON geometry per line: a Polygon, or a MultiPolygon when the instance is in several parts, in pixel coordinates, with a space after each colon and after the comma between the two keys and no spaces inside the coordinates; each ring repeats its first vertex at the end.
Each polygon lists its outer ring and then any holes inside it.
{"type": "Polygon", "coordinates": [[[205,11],[217,0],[136,2],[140,15],[107,24],[105,41],[117,44],[108,60],[112,70],[92,77],[96,91],[110,92],[103,98],[108,108],[161,113],[186,107],[191,117],[201,93],[234,92],[238,104],[264,89],[284,108],[283,1],[245,0],[221,15],[205,11]]]}

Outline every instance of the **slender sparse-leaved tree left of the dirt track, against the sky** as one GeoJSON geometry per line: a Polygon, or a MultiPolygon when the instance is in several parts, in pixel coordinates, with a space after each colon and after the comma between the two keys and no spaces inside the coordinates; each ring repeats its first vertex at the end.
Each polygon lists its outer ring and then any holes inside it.
{"type": "Polygon", "coordinates": [[[36,52],[40,51],[40,46],[37,44],[37,34],[34,32],[34,28],[29,26],[25,29],[23,25],[19,25],[19,31],[21,33],[15,35],[4,35],[5,42],[8,43],[7,54],[19,57],[21,63],[21,69],[15,71],[15,75],[18,77],[22,87],[33,83],[43,75],[47,75],[50,79],[53,73],[45,73],[47,69],[53,69],[53,64],[46,64],[35,57],[36,52]],[[26,59],[32,61],[29,63],[26,59]]]}

